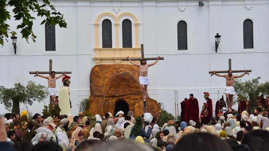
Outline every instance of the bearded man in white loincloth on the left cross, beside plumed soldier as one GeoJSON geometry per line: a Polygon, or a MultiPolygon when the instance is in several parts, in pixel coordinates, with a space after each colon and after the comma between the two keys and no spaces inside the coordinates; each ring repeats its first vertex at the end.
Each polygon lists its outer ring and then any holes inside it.
{"type": "Polygon", "coordinates": [[[50,76],[43,76],[43,75],[40,75],[38,74],[38,71],[36,71],[36,74],[35,74],[35,77],[38,76],[38,77],[42,77],[42,78],[45,78],[45,79],[48,79],[48,91],[49,91],[49,95],[51,97],[51,104],[52,106],[54,106],[54,98],[55,98],[55,95],[56,95],[56,80],[65,76],[65,72],[62,74],[62,75],[59,75],[57,77],[55,77],[56,75],[56,72],[55,71],[51,71],[50,73],[50,76]]]}

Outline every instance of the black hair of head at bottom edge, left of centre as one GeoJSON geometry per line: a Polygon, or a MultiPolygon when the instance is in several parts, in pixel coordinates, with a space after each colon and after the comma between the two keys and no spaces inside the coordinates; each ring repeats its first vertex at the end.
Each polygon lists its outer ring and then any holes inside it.
{"type": "Polygon", "coordinates": [[[31,151],[62,151],[63,149],[55,142],[42,141],[38,142],[31,151]]]}

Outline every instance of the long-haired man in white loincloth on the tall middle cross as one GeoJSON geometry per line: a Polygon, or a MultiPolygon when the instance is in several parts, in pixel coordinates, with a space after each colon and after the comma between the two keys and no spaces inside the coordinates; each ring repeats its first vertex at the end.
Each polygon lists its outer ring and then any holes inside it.
{"type": "Polygon", "coordinates": [[[148,94],[148,85],[149,85],[149,77],[148,77],[148,67],[153,66],[160,60],[160,56],[158,56],[157,60],[154,61],[154,63],[147,64],[147,60],[145,58],[142,58],[140,60],[140,64],[136,64],[133,62],[129,56],[127,57],[127,60],[131,62],[131,64],[140,67],[140,76],[139,76],[139,83],[142,87],[142,95],[143,95],[143,101],[146,102],[146,96],[148,94]]]}

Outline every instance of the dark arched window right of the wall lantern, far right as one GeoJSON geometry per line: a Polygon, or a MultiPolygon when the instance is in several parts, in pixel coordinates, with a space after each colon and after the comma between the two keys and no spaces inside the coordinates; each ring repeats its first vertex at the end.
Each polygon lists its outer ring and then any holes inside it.
{"type": "Polygon", "coordinates": [[[244,49],[253,48],[253,22],[246,19],[243,23],[244,49]]]}

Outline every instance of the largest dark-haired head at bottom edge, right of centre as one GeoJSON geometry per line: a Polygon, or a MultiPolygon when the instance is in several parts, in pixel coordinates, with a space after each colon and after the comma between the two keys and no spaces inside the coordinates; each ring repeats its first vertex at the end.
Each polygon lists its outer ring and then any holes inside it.
{"type": "Polygon", "coordinates": [[[227,142],[216,135],[209,133],[192,133],[182,137],[173,148],[173,151],[184,150],[232,151],[227,142]],[[197,140],[197,141],[193,141],[197,140]],[[191,145],[190,145],[191,142],[191,145]]]}

